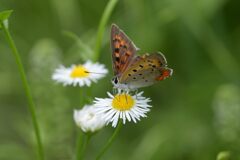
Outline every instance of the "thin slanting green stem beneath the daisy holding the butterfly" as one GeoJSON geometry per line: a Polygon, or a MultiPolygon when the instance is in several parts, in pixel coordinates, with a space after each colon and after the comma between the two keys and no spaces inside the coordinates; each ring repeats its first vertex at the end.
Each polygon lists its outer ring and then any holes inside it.
{"type": "Polygon", "coordinates": [[[108,148],[111,146],[111,144],[113,143],[114,139],[116,138],[116,136],[118,135],[120,129],[122,128],[122,121],[118,122],[117,128],[115,129],[115,131],[113,132],[113,135],[109,138],[108,142],[105,144],[105,146],[103,147],[103,149],[99,152],[96,160],[99,160],[103,154],[108,150],[108,148]]]}

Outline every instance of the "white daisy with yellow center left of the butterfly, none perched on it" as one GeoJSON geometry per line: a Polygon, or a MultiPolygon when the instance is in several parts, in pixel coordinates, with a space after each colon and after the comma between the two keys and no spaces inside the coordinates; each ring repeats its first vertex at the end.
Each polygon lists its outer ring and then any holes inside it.
{"type": "Polygon", "coordinates": [[[103,78],[108,73],[108,70],[103,64],[87,61],[84,64],[72,65],[69,68],[60,66],[55,70],[52,79],[63,83],[64,86],[90,86],[92,82],[103,78]]]}

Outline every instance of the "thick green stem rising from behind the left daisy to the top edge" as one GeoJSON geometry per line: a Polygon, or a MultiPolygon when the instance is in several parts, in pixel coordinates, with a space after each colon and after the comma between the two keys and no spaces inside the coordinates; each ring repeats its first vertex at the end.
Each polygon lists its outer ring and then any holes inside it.
{"type": "Polygon", "coordinates": [[[102,18],[98,26],[97,39],[96,39],[95,50],[94,50],[94,53],[95,53],[94,59],[93,59],[94,61],[97,61],[100,56],[100,48],[102,45],[102,37],[103,37],[104,29],[117,2],[118,0],[109,0],[106,8],[104,9],[102,18]]]}

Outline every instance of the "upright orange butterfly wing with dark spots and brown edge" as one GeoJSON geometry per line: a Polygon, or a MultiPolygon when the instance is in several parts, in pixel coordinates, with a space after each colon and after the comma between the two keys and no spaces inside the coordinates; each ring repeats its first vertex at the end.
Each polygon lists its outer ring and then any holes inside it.
{"type": "Polygon", "coordinates": [[[114,75],[123,73],[132,63],[137,47],[115,24],[111,28],[112,64],[114,75]]]}

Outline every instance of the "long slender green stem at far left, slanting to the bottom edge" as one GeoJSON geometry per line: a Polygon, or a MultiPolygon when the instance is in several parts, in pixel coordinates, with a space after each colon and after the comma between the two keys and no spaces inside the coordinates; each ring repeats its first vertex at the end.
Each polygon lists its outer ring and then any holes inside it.
{"type": "Polygon", "coordinates": [[[41,142],[41,136],[40,136],[40,131],[39,131],[39,126],[38,126],[38,122],[37,122],[37,118],[36,118],[36,111],[35,111],[35,104],[33,102],[33,97],[31,94],[31,90],[27,81],[27,77],[23,68],[23,64],[21,62],[21,58],[20,55],[18,53],[18,50],[15,46],[15,43],[9,33],[8,28],[5,26],[5,24],[3,22],[1,22],[1,26],[2,29],[4,31],[4,34],[6,36],[7,42],[12,50],[12,53],[15,57],[19,72],[20,72],[20,76],[22,79],[22,83],[23,83],[23,87],[24,87],[24,91],[25,94],[27,96],[27,100],[28,100],[28,109],[30,111],[31,114],[31,118],[32,118],[32,123],[33,123],[33,127],[34,127],[34,131],[35,131],[35,136],[36,136],[36,140],[37,140],[37,145],[38,145],[38,156],[40,160],[44,160],[44,152],[43,152],[43,146],[42,146],[42,142],[41,142]]]}

